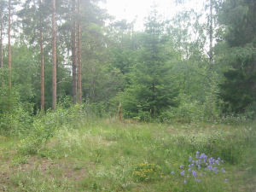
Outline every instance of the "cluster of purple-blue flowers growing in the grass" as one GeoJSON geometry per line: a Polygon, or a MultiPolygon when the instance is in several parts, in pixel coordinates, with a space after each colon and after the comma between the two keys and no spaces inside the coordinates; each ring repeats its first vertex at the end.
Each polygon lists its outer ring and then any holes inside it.
{"type": "MultiPolygon", "coordinates": [[[[189,178],[189,174],[191,174],[191,177],[194,177],[195,182],[201,182],[201,180],[198,177],[203,176],[203,172],[201,171],[201,168],[204,167],[207,172],[215,172],[216,174],[221,171],[225,173],[224,168],[222,167],[221,170],[218,170],[218,166],[223,163],[223,160],[214,159],[212,157],[208,158],[207,154],[200,154],[198,151],[195,154],[195,160],[191,156],[189,156],[189,167],[188,171],[185,170],[185,166],[181,165],[179,166],[180,169],[183,171],[180,172],[180,175],[189,178]]],[[[174,172],[172,172],[174,174],[174,172]]],[[[206,173],[204,173],[206,174],[206,173]]],[[[227,179],[225,179],[225,182],[227,182],[227,179]]],[[[187,180],[184,180],[184,183],[187,183],[187,180]]]]}

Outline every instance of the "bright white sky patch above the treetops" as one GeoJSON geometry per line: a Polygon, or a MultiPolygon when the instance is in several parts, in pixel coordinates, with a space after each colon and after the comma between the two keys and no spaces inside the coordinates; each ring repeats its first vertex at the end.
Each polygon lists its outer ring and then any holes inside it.
{"type": "Polygon", "coordinates": [[[171,19],[178,11],[195,9],[201,12],[203,3],[206,0],[187,0],[183,5],[177,5],[175,0],[106,0],[100,3],[104,9],[108,9],[108,14],[113,15],[116,20],[132,21],[137,19],[136,30],[143,29],[144,18],[148,15],[150,7],[156,4],[161,15],[165,19],[171,19]]]}

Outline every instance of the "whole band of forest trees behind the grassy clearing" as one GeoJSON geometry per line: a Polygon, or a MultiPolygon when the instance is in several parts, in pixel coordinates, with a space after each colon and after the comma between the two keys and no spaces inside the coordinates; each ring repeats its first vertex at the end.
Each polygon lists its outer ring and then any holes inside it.
{"type": "Polygon", "coordinates": [[[255,116],[253,0],[206,0],[203,15],[172,20],[153,7],[143,32],[98,0],[0,2],[0,119],[67,101],[147,121],[255,116]]]}

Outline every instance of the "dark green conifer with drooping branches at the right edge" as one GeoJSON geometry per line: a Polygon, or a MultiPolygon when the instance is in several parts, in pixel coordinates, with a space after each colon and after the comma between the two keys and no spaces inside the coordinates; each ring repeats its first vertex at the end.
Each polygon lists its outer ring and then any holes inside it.
{"type": "Polygon", "coordinates": [[[227,1],[219,14],[226,25],[224,40],[229,45],[225,60],[229,69],[224,73],[221,96],[224,112],[244,113],[255,102],[255,10],[253,1],[227,1]]]}

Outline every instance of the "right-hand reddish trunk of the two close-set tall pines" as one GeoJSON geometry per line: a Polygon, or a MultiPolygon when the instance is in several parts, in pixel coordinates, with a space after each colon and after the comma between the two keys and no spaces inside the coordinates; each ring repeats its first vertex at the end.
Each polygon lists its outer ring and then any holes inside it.
{"type": "Polygon", "coordinates": [[[79,104],[82,104],[82,62],[81,62],[81,20],[80,0],[78,0],[78,65],[79,65],[79,104]]]}

